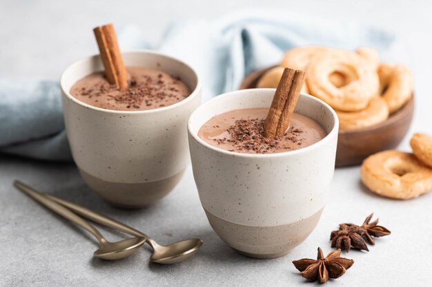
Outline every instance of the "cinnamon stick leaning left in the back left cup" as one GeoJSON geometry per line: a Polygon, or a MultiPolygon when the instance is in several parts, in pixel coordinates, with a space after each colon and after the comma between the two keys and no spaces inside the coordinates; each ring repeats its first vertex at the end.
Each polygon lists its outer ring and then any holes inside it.
{"type": "Polygon", "coordinates": [[[128,87],[128,72],[121,57],[114,25],[103,25],[93,29],[93,32],[95,32],[108,82],[120,89],[126,89],[128,87]]]}

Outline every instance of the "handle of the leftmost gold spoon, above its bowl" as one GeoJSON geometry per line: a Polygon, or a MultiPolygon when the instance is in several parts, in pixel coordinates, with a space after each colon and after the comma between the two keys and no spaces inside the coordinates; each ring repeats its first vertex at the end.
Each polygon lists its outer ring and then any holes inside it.
{"type": "Polygon", "coordinates": [[[90,223],[86,222],[86,220],[83,220],[81,217],[79,217],[69,209],[66,209],[65,207],[61,206],[61,204],[49,200],[41,193],[39,193],[35,189],[32,189],[27,184],[20,182],[19,180],[14,181],[14,187],[19,189],[20,191],[23,191],[23,193],[26,193],[28,196],[30,196],[30,198],[36,200],[46,208],[54,211],[55,213],[65,217],[71,222],[77,224],[78,226],[81,226],[82,228],[86,229],[87,231],[92,233],[92,235],[95,235],[95,237],[97,238],[97,240],[99,240],[99,242],[105,241],[104,237],[101,235],[101,233],[99,233],[99,231],[97,231],[95,226],[92,226],[90,223]]]}

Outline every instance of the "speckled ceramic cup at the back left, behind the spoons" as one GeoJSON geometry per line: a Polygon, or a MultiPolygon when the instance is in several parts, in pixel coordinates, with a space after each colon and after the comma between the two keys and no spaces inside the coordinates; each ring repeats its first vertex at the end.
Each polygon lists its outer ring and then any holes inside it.
{"type": "Polygon", "coordinates": [[[137,208],[163,198],[179,182],[189,162],[186,123],[201,101],[201,84],[191,67],[170,56],[141,50],[123,57],[126,66],[178,76],[192,91],[167,107],[114,111],[69,93],[84,76],[104,70],[99,55],[70,65],[61,76],[66,132],[82,178],[111,204],[137,208]]]}

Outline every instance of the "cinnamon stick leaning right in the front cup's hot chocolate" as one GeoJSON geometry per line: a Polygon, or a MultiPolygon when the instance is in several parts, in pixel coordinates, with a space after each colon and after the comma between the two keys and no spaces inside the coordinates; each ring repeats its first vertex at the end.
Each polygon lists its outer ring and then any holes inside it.
{"type": "Polygon", "coordinates": [[[290,68],[284,70],[264,122],[266,138],[278,138],[288,129],[305,79],[306,73],[303,71],[290,68]]]}

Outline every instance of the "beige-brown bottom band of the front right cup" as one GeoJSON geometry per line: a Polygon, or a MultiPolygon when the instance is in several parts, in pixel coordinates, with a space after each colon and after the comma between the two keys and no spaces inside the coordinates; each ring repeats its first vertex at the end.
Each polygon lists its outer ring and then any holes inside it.
{"type": "Polygon", "coordinates": [[[246,226],[227,222],[206,211],[208,222],[226,244],[242,255],[257,259],[271,259],[290,253],[311,234],[321,213],[322,209],[311,217],[286,225],[246,226]]]}

